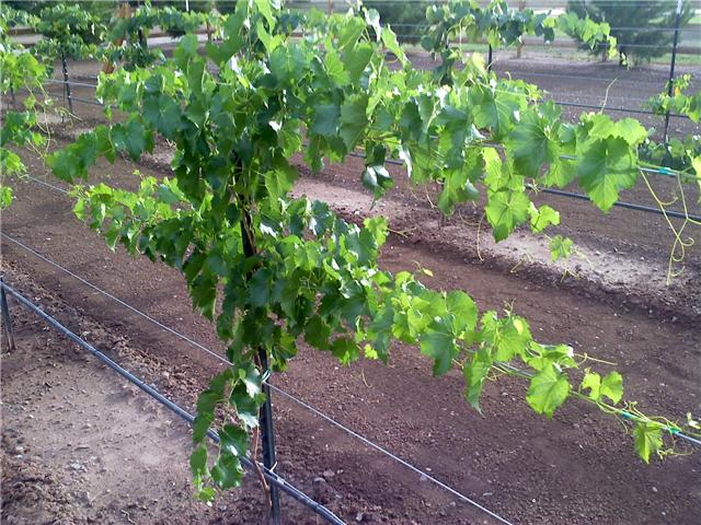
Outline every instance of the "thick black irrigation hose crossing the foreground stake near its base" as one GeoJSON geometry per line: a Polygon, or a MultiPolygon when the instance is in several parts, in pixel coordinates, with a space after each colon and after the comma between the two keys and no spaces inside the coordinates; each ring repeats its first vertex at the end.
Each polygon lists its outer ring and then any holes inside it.
{"type": "MultiPolygon", "coordinates": [[[[4,281],[0,281],[0,287],[2,287],[3,290],[10,292],[27,310],[34,312],[36,315],[42,317],[54,329],[56,329],[57,331],[59,331],[60,334],[62,334],[64,336],[66,336],[70,340],[72,340],[79,347],[83,348],[84,350],[88,350],[95,358],[97,358],[100,361],[102,361],[104,364],[106,364],[110,369],[112,369],[113,371],[115,371],[116,373],[122,375],[128,382],[130,382],[134,385],[138,386],[141,390],[143,390],[146,394],[151,396],[153,399],[159,401],[161,405],[165,406],[171,411],[173,411],[174,413],[180,416],[183,420],[187,421],[189,424],[192,424],[195,421],[195,417],[193,415],[191,415],[187,410],[185,410],[184,408],[182,408],[181,406],[179,406],[177,404],[175,404],[174,401],[172,401],[171,399],[165,397],[163,394],[158,392],[152,386],[147,385],[142,380],[140,380],[139,377],[134,375],[131,372],[129,372],[128,370],[126,370],[123,366],[120,366],[116,361],[113,361],[107,355],[105,355],[103,352],[101,352],[100,350],[94,348],[92,345],[90,345],[88,341],[85,341],[84,339],[82,339],[79,336],[77,336],[76,334],[73,334],[71,330],[66,328],[58,320],[56,320],[54,317],[48,315],[46,312],[44,312],[42,308],[39,308],[36,304],[31,302],[24,295],[22,295],[18,291],[15,291],[12,287],[7,284],[4,281]]],[[[207,435],[215,443],[219,443],[219,435],[214,430],[210,429],[207,432],[207,435]]],[[[253,471],[256,470],[256,465],[254,465],[254,462],[252,459],[250,459],[249,457],[240,456],[240,460],[250,470],[253,470],[253,471]]],[[[291,485],[289,481],[287,481],[281,476],[277,475],[273,470],[269,470],[268,468],[265,468],[261,464],[257,464],[257,468],[260,468],[262,470],[263,476],[272,485],[275,485],[281,491],[284,491],[287,494],[291,495],[294,499],[296,499],[297,501],[302,503],[304,506],[311,509],[314,513],[319,514],[321,517],[326,520],[329,523],[333,523],[335,525],[345,525],[345,522],[343,520],[341,520],[338,516],[336,516],[333,512],[331,512],[329,509],[323,506],[321,503],[319,503],[319,502],[314,501],[313,499],[311,499],[309,495],[307,495],[304,492],[302,492],[297,487],[291,485]]]]}

